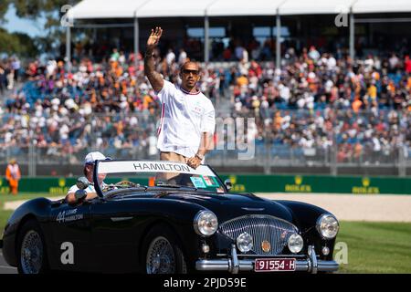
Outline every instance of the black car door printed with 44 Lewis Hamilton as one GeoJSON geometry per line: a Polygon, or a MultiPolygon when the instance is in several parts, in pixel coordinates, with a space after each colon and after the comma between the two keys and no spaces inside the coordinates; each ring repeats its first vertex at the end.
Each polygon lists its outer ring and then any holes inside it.
{"type": "Polygon", "coordinates": [[[61,203],[51,209],[52,266],[62,270],[91,271],[90,202],[61,203]]]}

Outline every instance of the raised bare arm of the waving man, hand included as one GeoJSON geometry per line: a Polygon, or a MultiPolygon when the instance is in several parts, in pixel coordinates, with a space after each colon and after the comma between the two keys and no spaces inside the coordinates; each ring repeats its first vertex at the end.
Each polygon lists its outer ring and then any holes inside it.
{"type": "Polygon", "coordinates": [[[161,27],[155,27],[155,31],[152,29],[152,33],[147,40],[147,48],[144,56],[144,74],[156,92],[163,89],[164,80],[162,75],[155,71],[153,50],[157,46],[162,34],[163,29],[161,27]]]}

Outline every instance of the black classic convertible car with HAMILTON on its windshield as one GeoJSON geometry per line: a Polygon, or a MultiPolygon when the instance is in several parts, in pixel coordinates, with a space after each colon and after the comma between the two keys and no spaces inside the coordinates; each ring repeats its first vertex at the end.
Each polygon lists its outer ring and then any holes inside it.
{"type": "Polygon", "coordinates": [[[229,193],[207,165],[96,161],[93,177],[79,178],[75,203],[37,198],[16,209],[5,261],[26,274],[338,269],[339,223],[317,206],[229,193]],[[98,197],[85,200],[90,185],[98,197]]]}

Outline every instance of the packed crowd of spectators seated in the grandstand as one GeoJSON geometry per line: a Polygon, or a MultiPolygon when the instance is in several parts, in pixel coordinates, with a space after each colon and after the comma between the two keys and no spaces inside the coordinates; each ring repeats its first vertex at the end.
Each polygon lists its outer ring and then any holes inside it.
{"type": "MultiPolygon", "coordinates": [[[[229,62],[203,64],[199,87],[218,104],[217,116],[255,117],[256,141],[274,148],[336,146],[338,161],[345,162],[410,147],[410,58],[393,53],[350,60],[320,51],[289,48],[279,69],[261,60],[267,59],[259,57],[263,49],[248,56],[248,49],[236,47],[229,62]]],[[[157,51],[157,70],[178,82],[187,55],[157,51]]],[[[34,141],[56,157],[90,146],[111,155],[145,153],[155,143],[161,105],[143,75],[142,56],[134,57],[113,49],[101,62],[79,58],[70,70],[62,60],[25,68],[16,57],[3,60],[1,148],[18,151],[34,141]],[[17,77],[24,82],[14,89],[17,77]]]]}

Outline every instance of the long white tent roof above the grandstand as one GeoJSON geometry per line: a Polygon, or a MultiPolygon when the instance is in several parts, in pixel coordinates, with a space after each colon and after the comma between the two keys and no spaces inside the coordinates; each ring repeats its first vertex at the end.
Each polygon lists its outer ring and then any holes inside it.
{"type": "Polygon", "coordinates": [[[83,0],[68,16],[87,18],[139,18],[173,16],[273,16],[411,12],[410,0],[83,0]]]}

